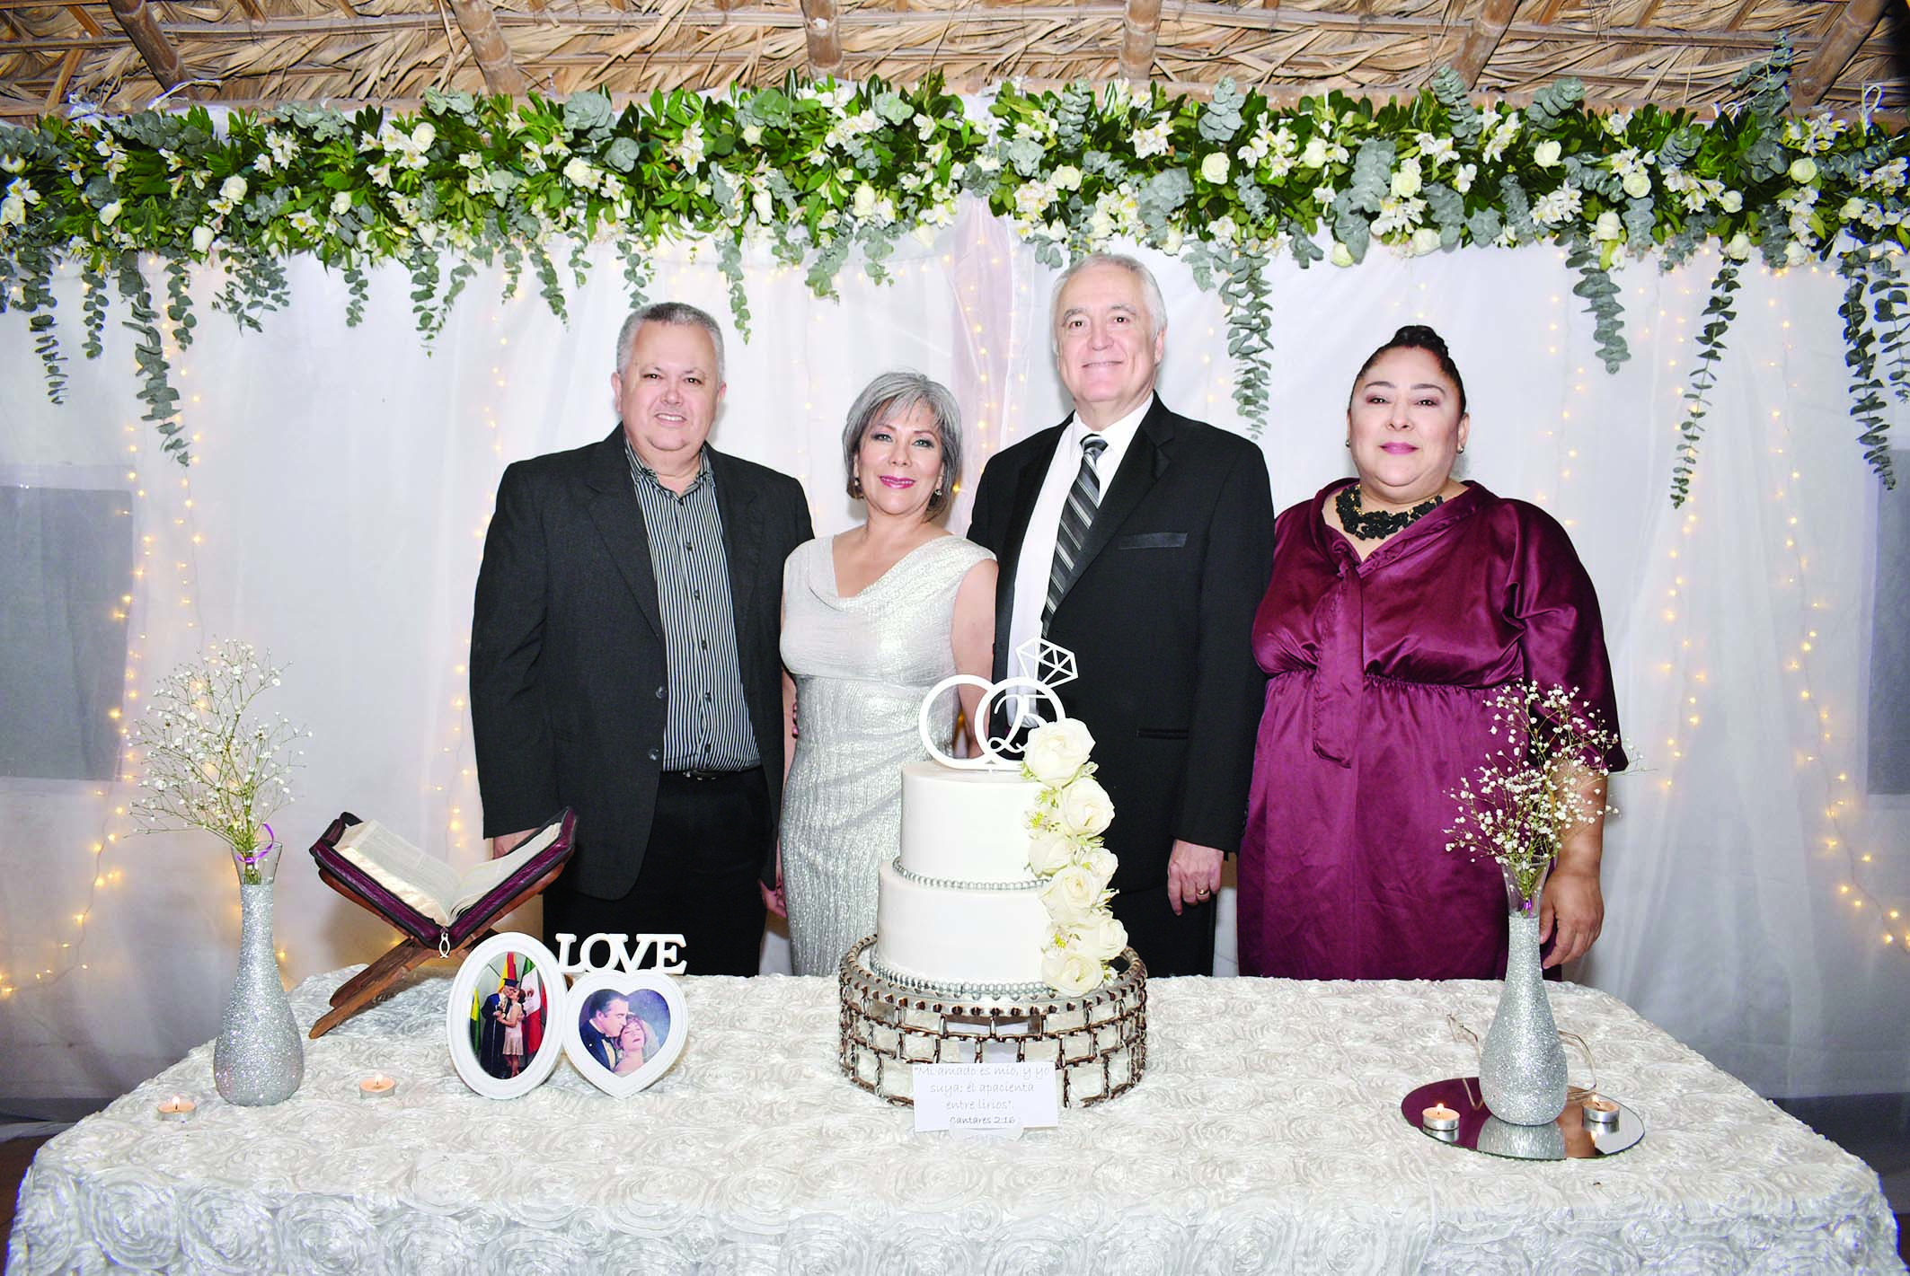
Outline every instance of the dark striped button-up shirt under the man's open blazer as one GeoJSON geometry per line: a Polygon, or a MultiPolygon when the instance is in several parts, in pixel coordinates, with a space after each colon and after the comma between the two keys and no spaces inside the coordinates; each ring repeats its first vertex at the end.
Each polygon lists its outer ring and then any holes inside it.
{"type": "Polygon", "coordinates": [[[628,436],[623,451],[649,531],[649,565],[657,575],[657,611],[670,661],[663,770],[747,772],[762,758],[743,701],[730,560],[722,550],[709,451],[682,497],[642,462],[628,436]]]}

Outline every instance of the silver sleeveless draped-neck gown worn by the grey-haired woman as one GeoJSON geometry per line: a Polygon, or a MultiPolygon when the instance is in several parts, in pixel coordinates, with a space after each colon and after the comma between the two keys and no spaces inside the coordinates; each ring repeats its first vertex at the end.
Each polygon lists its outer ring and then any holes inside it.
{"type": "MultiPolygon", "coordinates": [[[[783,785],[783,896],[796,974],[835,974],[875,934],[877,871],[902,837],[902,764],[926,758],[917,714],[955,672],[955,590],[991,558],[936,537],[865,590],[835,588],[831,537],[783,564],[783,665],[796,680],[796,756],[783,785]]],[[[936,745],[955,735],[953,693],[936,745]]]]}

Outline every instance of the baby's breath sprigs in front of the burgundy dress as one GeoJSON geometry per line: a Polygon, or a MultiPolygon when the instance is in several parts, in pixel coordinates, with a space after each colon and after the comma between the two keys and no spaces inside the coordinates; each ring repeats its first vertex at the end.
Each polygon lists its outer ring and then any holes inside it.
{"type": "Polygon", "coordinates": [[[1448,791],[1457,814],[1446,850],[1496,860],[1517,905],[1530,913],[1566,837],[1612,810],[1591,781],[1610,774],[1618,734],[1578,688],[1507,682],[1486,707],[1503,743],[1476,777],[1448,791]]]}

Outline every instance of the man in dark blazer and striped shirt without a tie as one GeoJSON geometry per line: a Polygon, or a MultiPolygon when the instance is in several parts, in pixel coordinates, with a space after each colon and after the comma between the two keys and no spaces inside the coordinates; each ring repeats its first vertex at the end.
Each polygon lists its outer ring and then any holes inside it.
{"type": "Polygon", "coordinates": [[[783,560],[796,479],[709,447],[722,330],[693,306],[617,338],[619,428],[504,470],[472,609],[472,728],[493,854],[554,810],[577,850],[544,934],[682,934],[754,974],[783,789],[783,560]]]}

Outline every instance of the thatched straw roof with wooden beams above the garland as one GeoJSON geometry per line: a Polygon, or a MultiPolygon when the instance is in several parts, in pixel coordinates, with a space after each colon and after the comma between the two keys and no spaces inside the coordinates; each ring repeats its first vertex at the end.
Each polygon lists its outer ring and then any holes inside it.
{"type": "Polygon", "coordinates": [[[1224,76],[1276,96],[1410,94],[1440,65],[1517,96],[1564,74],[1599,103],[1709,109],[1780,36],[1793,103],[1906,105],[1893,0],[0,0],[0,115],[162,88],[229,103],[407,101],[772,84],[787,73],[957,90],[1224,76]]]}

